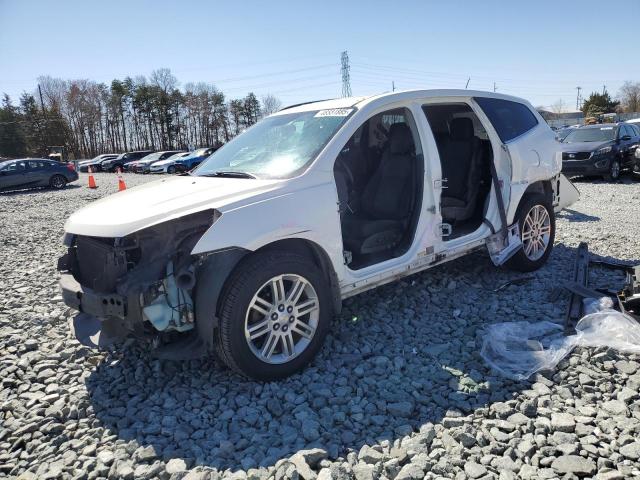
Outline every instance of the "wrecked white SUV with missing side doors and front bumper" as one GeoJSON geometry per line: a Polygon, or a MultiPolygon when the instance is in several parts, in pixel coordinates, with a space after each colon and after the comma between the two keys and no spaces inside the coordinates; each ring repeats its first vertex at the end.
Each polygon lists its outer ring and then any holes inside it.
{"type": "Polygon", "coordinates": [[[74,213],[59,261],[85,344],[134,335],[261,380],[320,349],[341,300],[487,247],[542,266],[578,198],[521,99],[396,92],[286,108],[190,175],[74,213]]]}

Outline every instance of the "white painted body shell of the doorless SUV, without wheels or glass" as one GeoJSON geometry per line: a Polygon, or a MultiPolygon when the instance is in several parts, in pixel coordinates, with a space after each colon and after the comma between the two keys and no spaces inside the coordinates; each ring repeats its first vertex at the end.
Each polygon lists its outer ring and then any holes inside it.
{"type": "MultiPolygon", "coordinates": [[[[441,167],[435,139],[421,107],[426,103],[467,102],[487,130],[502,184],[508,223],[532,183],[558,178],[561,162],[551,129],[529,103],[502,94],[471,90],[423,90],[396,92],[369,98],[342,98],[300,105],[274,115],[333,108],[357,109],[340,127],[317,158],[301,175],[285,180],[254,180],[181,176],[163,179],[106,197],[73,214],[65,230],[90,236],[120,237],[161,222],[207,209],[220,218],[194,247],[193,254],[233,247],[255,251],[272,242],[300,238],[312,241],[328,255],[339,280],[341,295],[353,295],[442,261],[456,258],[482,245],[492,233],[483,224],[475,232],[444,241],[439,231],[442,216],[439,199],[441,167]],[[489,97],[524,103],[536,115],[538,125],[506,145],[473,98],[489,97]],[[343,259],[334,161],[357,128],[376,113],[396,107],[411,110],[424,154],[425,177],[420,215],[412,245],[400,257],[360,270],[349,269],[343,259]],[[430,207],[435,207],[429,211],[430,207]]],[[[561,189],[574,187],[560,177],[561,189]]],[[[577,190],[575,190],[577,192],[577,190]]],[[[563,206],[577,200],[562,198],[563,206]]],[[[562,192],[564,193],[564,191],[562,192]]],[[[500,228],[497,200],[492,187],[486,218],[500,228]]]]}

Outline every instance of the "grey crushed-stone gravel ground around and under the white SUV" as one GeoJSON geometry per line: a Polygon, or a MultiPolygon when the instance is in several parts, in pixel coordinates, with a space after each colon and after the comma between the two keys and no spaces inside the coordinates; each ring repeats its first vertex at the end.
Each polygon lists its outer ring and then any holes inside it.
{"type": "MultiPolygon", "coordinates": [[[[497,377],[483,328],[562,321],[575,248],[640,263],[640,183],[579,182],[534,279],[475,254],[345,302],[319,357],[277,383],[209,360],[97,353],[70,336],[57,287],[66,217],[114,192],[0,195],[0,477],[577,478],[640,475],[640,357],[577,349],[526,382],[497,377]]],[[[126,175],[129,186],[149,176],[126,175]]],[[[617,287],[593,269],[592,285],[617,287]]]]}

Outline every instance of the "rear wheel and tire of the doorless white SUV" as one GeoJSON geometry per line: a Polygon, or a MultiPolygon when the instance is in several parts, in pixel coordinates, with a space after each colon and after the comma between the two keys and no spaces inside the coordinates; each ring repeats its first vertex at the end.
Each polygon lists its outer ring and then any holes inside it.
{"type": "Polygon", "coordinates": [[[532,272],[546,263],[553,250],[556,217],[551,202],[541,193],[526,195],[518,205],[515,220],[520,227],[522,248],[507,261],[507,266],[520,272],[532,272]],[[539,222],[535,222],[536,212],[539,222]],[[532,221],[538,226],[533,226],[532,221]],[[536,238],[539,240],[535,241],[536,238]],[[540,249],[541,246],[544,248],[540,249]]]}

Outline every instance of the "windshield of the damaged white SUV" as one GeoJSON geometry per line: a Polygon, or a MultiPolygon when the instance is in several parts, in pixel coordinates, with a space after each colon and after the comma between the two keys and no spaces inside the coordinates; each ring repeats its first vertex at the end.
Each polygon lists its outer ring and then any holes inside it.
{"type": "Polygon", "coordinates": [[[315,159],[352,112],[346,108],[267,117],[213,153],[193,174],[291,177],[315,159]]]}

